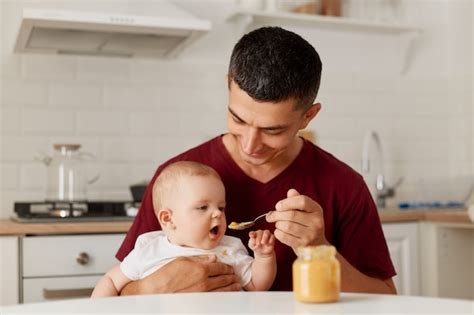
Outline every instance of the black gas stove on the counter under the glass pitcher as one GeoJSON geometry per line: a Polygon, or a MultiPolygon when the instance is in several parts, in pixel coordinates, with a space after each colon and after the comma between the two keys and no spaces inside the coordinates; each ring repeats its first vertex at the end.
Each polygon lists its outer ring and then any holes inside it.
{"type": "Polygon", "coordinates": [[[133,201],[28,201],[15,202],[16,217],[22,223],[127,221],[133,220],[139,202],[133,201]]]}

